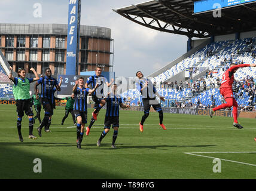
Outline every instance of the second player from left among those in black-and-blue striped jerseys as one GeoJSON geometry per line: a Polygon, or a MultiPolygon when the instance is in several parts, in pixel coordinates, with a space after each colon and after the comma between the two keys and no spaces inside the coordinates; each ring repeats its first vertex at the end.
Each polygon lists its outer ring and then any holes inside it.
{"type": "Polygon", "coordinates": [[[77,118],[77,148],[81,149],[84,136],[84,125],[87,123],[87,95],[93,93],[99,84],[95,84],[92,90],[84,88],[84,78],[80,77],[75,81],[73,93],[75,95],[74,113],[77,118]]]}

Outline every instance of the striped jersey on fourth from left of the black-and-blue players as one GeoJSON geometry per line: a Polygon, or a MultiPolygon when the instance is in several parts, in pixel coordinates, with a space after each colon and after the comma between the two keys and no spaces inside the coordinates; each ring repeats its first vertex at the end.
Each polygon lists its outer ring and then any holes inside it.
{"type": "Polygon", "coordinates": [[[109,94],[109,96],[106,98],[106,116],[119,116],[119,105],[121,103],[123,103],[123,100],[120,96],[109,94]]]}

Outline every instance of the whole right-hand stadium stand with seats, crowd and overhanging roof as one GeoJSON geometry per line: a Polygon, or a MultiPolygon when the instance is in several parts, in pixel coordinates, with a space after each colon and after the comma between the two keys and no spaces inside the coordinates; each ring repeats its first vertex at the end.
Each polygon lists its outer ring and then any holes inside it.
{"type": "MultiPolygon", "coordinates": [[[[160,95],[168,99],[161,103],[164,106],[169,106],[170,97],[177,107],[209,107],[214,102],[221,104],[223,100],[218,87],[229,64],[255,63],[256,24],[251,19],[255,17],[256,2],[232,1],[221,9],[217,21],[214,12],[209,11],[211,9],[200,7],[202,4],[211,5],[212,1],[197,1],[148,1],[113,10],[150,29],[188,37],[186,54],[148,76],[153,78],[151,81],[156,84],[160,95]],[[200,11],[195,6],[200,7],[200,11]],[[207,45],[204,44],[206,41],[209,41],[207,45]],[[181,79],[184,87],[179,83],[181,79]]],[[[234,78],[242,84],[235,95],[237,102],[243,107],[251,106],[255,103],[256,94],[255,68],[239,69],[234,78]],[[253,78],[248,79],[248,76],[253,78]],[[245,85],[248,80],[250,85],[245,85]]],[[[136,90],[129,91],[131,102],[137,104],[139,99],[136,95],[139,94],[136,90]]]]}

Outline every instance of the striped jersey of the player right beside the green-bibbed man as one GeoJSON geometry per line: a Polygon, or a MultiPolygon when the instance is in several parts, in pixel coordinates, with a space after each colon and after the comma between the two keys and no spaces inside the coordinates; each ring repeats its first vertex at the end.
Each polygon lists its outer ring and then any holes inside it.
{"type": "Polygon", "coordinates": [[[54,86],[58,84],[57,79],[48,78],[44,76],[38,79],[38,84],[41,84],[41,97],[48,98],[49,100],[53,100],[54,98],[54,86]]]}

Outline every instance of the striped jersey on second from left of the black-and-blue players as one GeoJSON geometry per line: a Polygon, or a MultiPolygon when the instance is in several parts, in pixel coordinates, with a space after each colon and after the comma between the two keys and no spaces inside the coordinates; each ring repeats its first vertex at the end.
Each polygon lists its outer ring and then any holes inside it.
{"type": "Polygon", "coordinates": [[[89,88],[77,88],[75,91],[75,103],[74,110],[80,112],[87,112],[87,95],[89,94],[89,88]]]}

